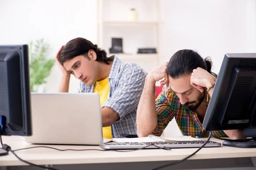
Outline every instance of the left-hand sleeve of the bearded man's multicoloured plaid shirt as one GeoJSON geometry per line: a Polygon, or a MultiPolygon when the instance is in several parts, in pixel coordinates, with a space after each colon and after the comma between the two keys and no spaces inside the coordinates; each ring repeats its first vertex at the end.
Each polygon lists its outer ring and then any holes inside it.
{"type": "Polygon", "coordinates": [[[168,96],[169,93],[163,90],[157,99],[155,100],[156,110],[157,110],[157,126],[154,131],[151,133],[155,136],[161,136],[163,130],[169,124],[169,122],[174,118],[174,113],[171,105],[168,102],[168,99],[172,99],[172,95],[168,96]]]}

